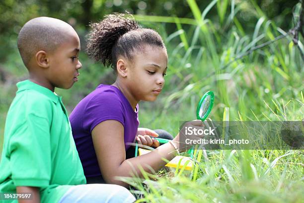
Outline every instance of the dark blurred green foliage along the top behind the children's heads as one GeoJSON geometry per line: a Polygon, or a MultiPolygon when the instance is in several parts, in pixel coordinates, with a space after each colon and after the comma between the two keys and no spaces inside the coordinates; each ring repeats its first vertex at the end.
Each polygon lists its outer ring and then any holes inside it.
{"type": "MultiPolygon", "coordinates": [[[[269,19],[274,19],[277,26],[283,29],[290,28],[292,8],[298,0],[251,0],[251,2],[235,0],[235,4],[242,4],[236,16],[239,23],[246,25],[245,29],[255,25],[257,12],[251,6],[252,2],[258,4],[261,10],[267,13],[269,19]]],[[[207,0],[197,0],[201,10],[209,3],[210,1],[207,0]]],[[[219,3],[218,8],[223,9],[223,5],[225,4],[219,3]]],[[[224,8],[228,10],[229,6],[224,8]]],[[[15,48],[17,33],[31,18],[38,16],[59,18],[69,22],[82,33],[88,29],[90,22],[100,20],[105,14],[125,11],[141,15],[193,17],[187,0],[1,0],[0,47],[5,49],[0,50],[0,62],[5,61],[15,48]]],[[[228,13],[221,13],[219,15],[214,7],[208,13],[208,18],[213,22],[222,23],[223,19],[228,17],[228,13]]],[[[166,27],[168,32],[174,29],[174,24],[166,27]]]]}

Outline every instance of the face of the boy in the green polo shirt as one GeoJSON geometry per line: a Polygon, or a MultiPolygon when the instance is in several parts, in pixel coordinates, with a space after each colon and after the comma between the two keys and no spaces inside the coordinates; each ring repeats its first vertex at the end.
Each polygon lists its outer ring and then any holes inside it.
{"type": "Polygon", "coordinates": [[[80,41],[77,33],[67,33],[67,40],[49,56],[48,80],[53,87],[69,89],[78,81],[80,41]]]}

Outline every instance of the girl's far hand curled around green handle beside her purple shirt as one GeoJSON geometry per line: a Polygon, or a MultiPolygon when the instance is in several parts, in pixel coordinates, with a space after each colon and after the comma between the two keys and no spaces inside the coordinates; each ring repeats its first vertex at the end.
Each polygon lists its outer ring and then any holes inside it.
{"type": "Polygon", "coordinates": [[[158,137],[158,134],[149,129],[149,128],[138,128],[137,133],[136,133],[136,138],[135,140],[142,145],[147,145],[149,147],[158,147],[159,142],[158,140],[151,138],[152,137],[158,137]]]}

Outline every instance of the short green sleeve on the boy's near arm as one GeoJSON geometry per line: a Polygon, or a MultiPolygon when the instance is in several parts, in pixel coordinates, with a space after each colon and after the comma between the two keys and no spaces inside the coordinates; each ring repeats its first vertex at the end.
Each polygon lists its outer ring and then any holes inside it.
{"type": "Polygon", "coordinates": [[[48,186],[51,177],[48,119],[27,114],[24,122],[12,130],[8,156],[15,186],[48,186]]]}

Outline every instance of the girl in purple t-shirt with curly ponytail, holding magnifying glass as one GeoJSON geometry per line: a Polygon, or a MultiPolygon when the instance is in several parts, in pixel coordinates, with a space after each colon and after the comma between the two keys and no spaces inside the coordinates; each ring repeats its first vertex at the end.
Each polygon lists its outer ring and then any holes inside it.
{"type": "Polygon", "coordinates": [[[149,136],[157,136],[154,131],[138,129],[138,102],[155,101],[164,86],[166,47],[157,32],[140,28],[123,14],[107,15],[92,28],[88,55],[111,66],[117,78],[112,85],[99,85],[77,104],[70,116],[73,136],[87,183],[127,186],[115,177],[141,176],[139,166],[149,173],[157,171],[166,164],[162,158],[171,160],[180,150],[179,134],[159,146],[149,136]],[[126,159],[127,143],[135,139],[157,148],[126,159]]]}

